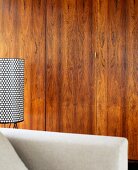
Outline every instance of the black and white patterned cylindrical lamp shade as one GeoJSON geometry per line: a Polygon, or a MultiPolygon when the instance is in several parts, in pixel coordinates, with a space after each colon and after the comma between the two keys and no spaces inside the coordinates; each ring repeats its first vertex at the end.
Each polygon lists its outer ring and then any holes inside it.
{"type": "Polygon", "coordinates": [[[24,120],[24,60],[0,58],[0,123],[24,120]]]}

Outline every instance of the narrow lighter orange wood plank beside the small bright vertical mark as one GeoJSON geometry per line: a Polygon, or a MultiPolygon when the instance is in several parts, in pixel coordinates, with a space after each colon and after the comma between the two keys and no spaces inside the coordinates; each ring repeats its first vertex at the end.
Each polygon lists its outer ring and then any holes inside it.
{"type": "Polygon", "coordinates": [[[107,135],[108,1],[97,0],[96,116],[99,135],[107,135]]]}

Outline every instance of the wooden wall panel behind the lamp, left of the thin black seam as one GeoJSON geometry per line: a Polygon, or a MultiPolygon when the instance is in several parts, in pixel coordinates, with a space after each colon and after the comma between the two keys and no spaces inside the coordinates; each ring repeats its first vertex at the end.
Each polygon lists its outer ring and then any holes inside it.
{"type": "Polygon", "coordinates": [[[45,0],[0,0],[0,57],[25,59],[25,121],[45,130],[45,0]]]}

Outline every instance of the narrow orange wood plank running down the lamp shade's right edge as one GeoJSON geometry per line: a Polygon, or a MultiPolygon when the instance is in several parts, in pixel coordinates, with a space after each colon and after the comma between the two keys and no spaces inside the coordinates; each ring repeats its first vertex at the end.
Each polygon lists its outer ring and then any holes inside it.
{"type": "Polygon", "coordinates": [[[20,124],[20,128],[31,129],[31,9],[32,1],[29,0],[18,2],[18,36],[19,36],[19,56],[25,59],[25,88],[24,88],[24,118],[25,121],[20,124]],[[24,26],[25,25],[25,26],[24,26]],[[29,123],[30,122],[30,123],[29,123]]]}

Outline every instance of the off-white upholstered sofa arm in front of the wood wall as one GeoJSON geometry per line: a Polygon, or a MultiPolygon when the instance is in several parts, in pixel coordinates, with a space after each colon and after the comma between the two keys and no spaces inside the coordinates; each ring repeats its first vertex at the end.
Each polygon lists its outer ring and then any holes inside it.
{"type": "Polygon", "coordinates": [[[127,170],[125,138],[0,129],[30,170],[127,170]]]}

